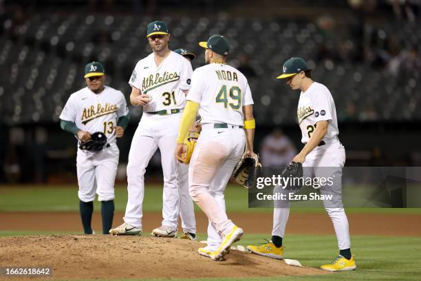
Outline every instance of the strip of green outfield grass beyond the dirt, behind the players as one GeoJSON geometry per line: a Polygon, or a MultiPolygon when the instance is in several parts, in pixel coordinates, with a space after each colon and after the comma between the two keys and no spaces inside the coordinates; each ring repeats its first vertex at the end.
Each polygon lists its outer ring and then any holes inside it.
{"type": "MultiPolygon", "coordinates": [[[[53,186],[0,186],[0,211],[78,211],[77,185],[53,186]]],[[[247,189],[230,185],[225,192],[227,211],[271,213],[272,208],[248,209],[247,189]]],[[[125,211],[127,187],[116,187],[116,211],[125,211]]],[[[95,205],[97,210],[99,205],[95,205]]],[[[195,206],[197,209],[197,206],[195,206]]],[[[144,211],[162,210],[162,186],[147,185],[144,195],[144,211]]],[[[295,213],[324,213],[323,207],[294,207],[295,213]]],[[[421,208],[346,208],[347,213],[371,214],[421,214],[421,208]]],[[[197,209],[198,210],[198,209],[197,209]]]]}

